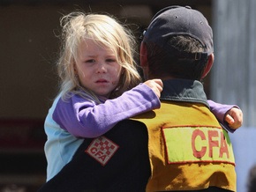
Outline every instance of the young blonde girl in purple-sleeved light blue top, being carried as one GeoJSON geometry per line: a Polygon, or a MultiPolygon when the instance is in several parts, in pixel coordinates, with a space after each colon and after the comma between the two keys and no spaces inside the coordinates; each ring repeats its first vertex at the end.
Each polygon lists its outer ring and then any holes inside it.
{"type": "MultiPolygon", "coordinates": [[[[102,136],[117,122],[159,108],[162,92],[160,79],[139,84],[134,38],[115,18],[73,12],[61,24],[62,84],[45,121],[47,181],[71,161],[83,137],[102,136]]],[[[213,109],[223,120],[217,109],[231,107],[213,109]]]]}

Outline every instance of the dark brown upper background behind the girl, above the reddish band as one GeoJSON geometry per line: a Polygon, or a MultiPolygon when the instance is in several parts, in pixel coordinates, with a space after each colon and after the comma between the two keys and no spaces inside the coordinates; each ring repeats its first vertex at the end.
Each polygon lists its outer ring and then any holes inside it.
{"type": "Polygon", "coordinates": [[[138,36],[153,14],[167,5],[189,2],[211,16],[210,1],[168,2],[1,0],[0,116],[44,118],[47,114],[57,91],[56,35],[64,14],[74,10],[108,12],[130,25],[138,36]]]}

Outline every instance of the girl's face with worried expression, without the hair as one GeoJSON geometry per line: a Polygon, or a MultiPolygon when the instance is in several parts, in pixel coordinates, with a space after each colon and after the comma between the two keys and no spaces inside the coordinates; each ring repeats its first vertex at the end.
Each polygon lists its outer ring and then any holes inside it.
{"type": "Polygon", "coordinates": [[[75,70],[81,85],[98,96],[109,98],[119,82],[121,66],[113,51],[87,40],[79,46],[75,70]]]}

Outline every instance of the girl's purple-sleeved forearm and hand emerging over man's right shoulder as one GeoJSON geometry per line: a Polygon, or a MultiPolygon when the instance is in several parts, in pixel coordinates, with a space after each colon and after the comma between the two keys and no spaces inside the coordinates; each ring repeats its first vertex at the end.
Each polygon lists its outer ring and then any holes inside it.
{"type": "Polygon", "coordinates": [[[243,123],[242,110],[235,105],[222,105],[215,103],[213,100],[207,100],[210,110],[225,129],[234,132],[241,127],[243,123]]]}

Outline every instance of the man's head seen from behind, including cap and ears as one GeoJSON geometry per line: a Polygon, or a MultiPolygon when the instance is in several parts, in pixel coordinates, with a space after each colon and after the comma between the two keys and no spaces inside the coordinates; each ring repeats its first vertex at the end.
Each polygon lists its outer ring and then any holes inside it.
{"type": "Polygon", "coordinates": [[[140,47],[148,78],[204,78],[214,61],[213,32],[200,11],[170,6],[156,13],[140,47]]]}

